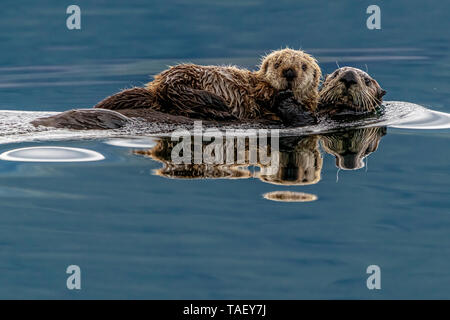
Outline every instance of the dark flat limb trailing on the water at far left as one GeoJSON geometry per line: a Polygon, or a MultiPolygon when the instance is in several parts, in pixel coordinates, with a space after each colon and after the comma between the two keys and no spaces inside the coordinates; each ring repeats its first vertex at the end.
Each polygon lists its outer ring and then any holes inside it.
{"type": "Polygon", "coordinates": [[[118,129],[130,119],[124,115],[106,109],[69,110],[55,116],[39,118],[31,122],[34,126],[66,128],[76,130],[118,129]]]}

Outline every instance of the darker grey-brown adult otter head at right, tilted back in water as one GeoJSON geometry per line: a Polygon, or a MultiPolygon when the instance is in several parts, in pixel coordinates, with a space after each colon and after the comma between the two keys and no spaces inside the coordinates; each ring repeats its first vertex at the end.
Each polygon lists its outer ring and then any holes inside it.
{"type": "Polygon", "coordinates": [[[386,91],[364,71],[343,67],[325,77],[319,94],[321,106],[373,112],[383,101],[386,91]]]}

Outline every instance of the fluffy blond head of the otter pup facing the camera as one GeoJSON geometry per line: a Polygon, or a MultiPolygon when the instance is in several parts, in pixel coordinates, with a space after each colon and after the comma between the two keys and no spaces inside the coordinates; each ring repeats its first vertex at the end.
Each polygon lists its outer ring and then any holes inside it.
{"type": "Polygon", "coordinates": [[[315,110],[322,73],[309,54],[292,49],[274,51],[263,58],[257,74],[278,91],[292,90],[299,103],[315,110]]]}

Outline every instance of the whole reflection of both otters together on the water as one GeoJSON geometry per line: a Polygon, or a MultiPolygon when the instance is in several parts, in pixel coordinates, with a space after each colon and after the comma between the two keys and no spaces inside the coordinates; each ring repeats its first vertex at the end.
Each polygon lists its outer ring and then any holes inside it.
{"type": "MultiPolygon", "coordinates": [[[[161,162],[162,168],[157,169],[155,174],[167,178],[258,178],[265,183],[275,185],[300,186],[316,184],[321,179],[323,158],[319,150],[319,141],[326,153],[336,157],[336,165],[339,168],[360,169],[364,166],[363,159],[377,150],[385,134],[385,127],[374,127],[323,135],[279,137],[277,148],[273,148],[273,141],[268,139],[266,145],[256,147],[259,155],[256,161],[251,159],[252,145],[249,139],[245,139],[244,148],[241,151],[238,150],[238,143],[233,143],[230,148],[230,145],[227,146],[227,142],[223,141],[223,148],[217,148],[218,144],[211,147],[211,142],[201,142],[202,154],[210,153],[215,157],[221,153],[221,157],[234,160],[220,164],[214,164],[211,161],[195,161],[195,143],[189,144],[189,157],[184,158],[184,162],[180,163],[179,159],[174,161],[174,155],[182,154],[179,149],[180,142],[171,141],[171,138],[161,138],[152,149],[138,150],[134,153],[161,162]],[[243,154],[239,155],[239,152],[243,154]],[[261,159],[264,160],[264,156],[265,161],[261,161],[261,159]],[[239,158],[240,161],[237,161],[239,158]],[[271,161],[267,161],[268,158],[271,161]],[[252,166],[259,170],[254,172],[252,166]]],[[[192,138],[191,141],[194,142],[194,139],[192,138]]],[[[286,196],[277,195],[278,200],[289,198],[289,192],[286,196]]]]}

